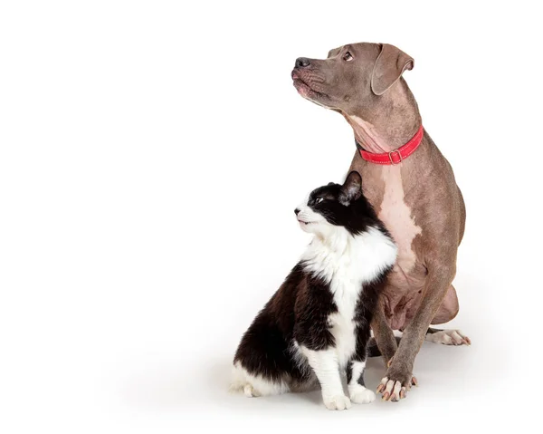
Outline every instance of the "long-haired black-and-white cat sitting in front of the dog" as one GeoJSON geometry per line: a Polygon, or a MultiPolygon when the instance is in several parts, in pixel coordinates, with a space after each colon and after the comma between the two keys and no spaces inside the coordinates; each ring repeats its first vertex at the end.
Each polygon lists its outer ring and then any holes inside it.
{"type": "Polygon", "coordinates": [[[313,190],[295,213],[313,240],[243,335],[231,389],[252,397],[319,384],[330,410],[371,402],[376,395],[363,377],[367,342],[379,293],[395,263],[395,243],[362,194],[357,172],[342,186],[313,190]]]}

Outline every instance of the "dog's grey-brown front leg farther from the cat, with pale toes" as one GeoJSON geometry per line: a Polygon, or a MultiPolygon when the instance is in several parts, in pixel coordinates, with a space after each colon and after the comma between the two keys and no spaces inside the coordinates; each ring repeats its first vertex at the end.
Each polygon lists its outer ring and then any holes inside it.
{"type": "Polygon", "coordinates": [[[452,258],[452,260],[439,261],[439,265],[427,265],[428,275],[424,284],[423,301],[414,314],[413,320],[405,328],[386,376],[377,388],[377,391],[383,394],[383,400],[405,398],[411,385],[416,384],[413,377],[414,359],[424,342],[424,336],[435,313],[452,284],[456,271],[454,266],[443,264],[454,263],[454,258],[452,258]]]}

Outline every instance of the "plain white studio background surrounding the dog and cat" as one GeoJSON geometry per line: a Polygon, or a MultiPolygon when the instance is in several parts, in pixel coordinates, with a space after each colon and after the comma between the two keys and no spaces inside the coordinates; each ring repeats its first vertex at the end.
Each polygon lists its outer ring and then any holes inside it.
{"type": "MultiPolygon", "coordinates": [[[[532,5],[2,2],[0,431],[526,427],[543,289],[532,5]],[[291,68],[359,41],[415,59],[405,79],[467,205],[451,326],[472,347],[424,344],[396,404],[229,395],[241,334],[309,242],[293,208],[355,149],[291,68]]],[[[383,373],[372,361],[369,386],[383,373]]]]}

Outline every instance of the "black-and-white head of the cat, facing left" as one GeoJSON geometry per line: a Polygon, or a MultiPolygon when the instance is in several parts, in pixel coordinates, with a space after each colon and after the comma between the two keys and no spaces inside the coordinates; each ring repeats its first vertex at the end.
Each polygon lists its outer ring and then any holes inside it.
{"type": "Polygon", "coordinates": [[[330,182],[315,188],[309,198],[294,210],[300,227],[311,234],[332,236],[341,227],[351,235],[380,226],[376,212],[362,194],[362,178],[356,171],[343,185],[330,182]]]}

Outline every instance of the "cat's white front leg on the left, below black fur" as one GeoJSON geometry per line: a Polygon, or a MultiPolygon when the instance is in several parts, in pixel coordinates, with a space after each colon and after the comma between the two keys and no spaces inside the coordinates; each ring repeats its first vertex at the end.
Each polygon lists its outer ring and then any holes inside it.
{"type": "Polygon", "coordinates": [[[315,372],[322,391],[322,400],[329,410],[347,410],[351,402],[343,391],[339,374],[338,355],[334,348],[328,350],[310,350],[300,346],[311,369],[315,372]]]}

